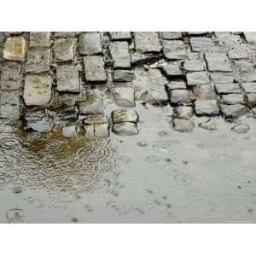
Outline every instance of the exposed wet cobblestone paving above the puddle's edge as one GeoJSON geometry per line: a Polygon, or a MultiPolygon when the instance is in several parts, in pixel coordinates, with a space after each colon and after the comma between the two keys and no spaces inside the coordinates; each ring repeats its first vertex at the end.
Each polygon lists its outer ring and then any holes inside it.
{"type": "Polygon", "coordinates": [[[255,116],[255,32],[1,32],[0,63],[0,119],[36,131],[136,135],[138,104],[182,132],[255,116]]]}

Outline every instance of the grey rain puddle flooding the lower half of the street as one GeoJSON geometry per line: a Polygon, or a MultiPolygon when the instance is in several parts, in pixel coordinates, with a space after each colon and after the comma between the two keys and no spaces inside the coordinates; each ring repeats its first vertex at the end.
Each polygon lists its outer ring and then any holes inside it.
{"type": "Polygon", "coordinates": [[[134,137],[2,133],[0,222],[255,222],[255,119],[246,134],[223,119],[186,134],[169,108],[137,109],[134,137]]]}

